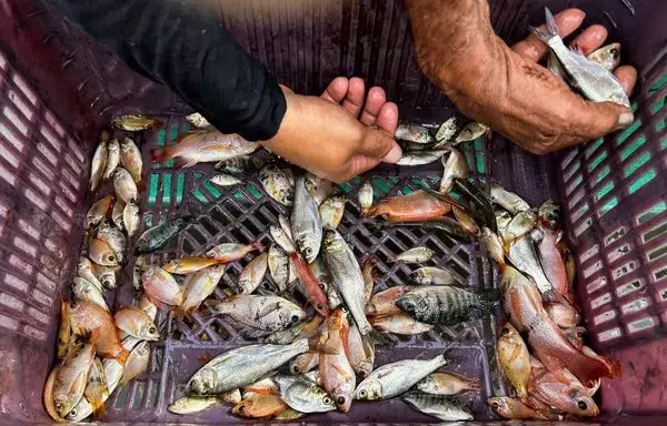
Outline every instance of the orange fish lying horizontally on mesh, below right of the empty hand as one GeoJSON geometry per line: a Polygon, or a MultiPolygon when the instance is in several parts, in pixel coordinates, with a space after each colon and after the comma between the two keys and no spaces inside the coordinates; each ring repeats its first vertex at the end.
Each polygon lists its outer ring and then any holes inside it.
{"type": "Polygon", "coordinates": [[[415,191],[408,195],[390,196],[380,201],[365,216],[376,217],[384,214],[389,222],[421,222],[442,216],[450,211],[450,203],[426,191],[415,191]]]}

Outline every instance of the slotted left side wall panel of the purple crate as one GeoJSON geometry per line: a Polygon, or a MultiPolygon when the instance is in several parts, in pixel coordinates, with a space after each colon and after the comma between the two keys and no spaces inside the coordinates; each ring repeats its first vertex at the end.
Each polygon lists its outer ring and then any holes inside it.
{"type": "Polygon", "coordinates": [[[0,52],[0,326],[46,341],[88,162],[0,52]]]}

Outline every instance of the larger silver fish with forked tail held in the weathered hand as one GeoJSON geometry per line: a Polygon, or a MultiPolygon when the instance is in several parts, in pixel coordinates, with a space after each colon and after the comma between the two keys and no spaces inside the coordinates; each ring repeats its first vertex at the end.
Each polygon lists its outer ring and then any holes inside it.
{"type": "Polygon", "coordinates": [[[630,101],[620,82],[605,67],[579,52],[568,49],[558,34],[558,27],[549,9],[545,8],[547,29],[531,28],[558,58],[566,71],[568,83],[594,102],[611,101],[630,108],[630,101]]]}

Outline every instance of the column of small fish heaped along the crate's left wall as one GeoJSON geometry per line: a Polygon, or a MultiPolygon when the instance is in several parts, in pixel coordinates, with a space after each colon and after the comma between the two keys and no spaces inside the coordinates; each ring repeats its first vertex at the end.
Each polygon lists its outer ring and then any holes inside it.
{"type": "MultiPolygon", "coordinates": [[[[157,122],[127,115],[112,124],[139,131],[157,122]]],[[[43,392],[47,412],[57,422],[79,422],[91,414],[103,418],[109,395],[147,368],[149,342],[160,338],[157,307],[148,298],[142,297],[138,308],[125,306],[112,313],[104,297],[106,290],[121,284],[120,270],[131,255],[129,246],[140,224],[142,169],[141,152],[132,139],[119,141],[102,131],[92,159],[90,191],[96,193],[109,183],[113,193],[96,201],[86,214],[86,246],[72,282],[72,301],[61,302],[58,364],[43,392]]]]}

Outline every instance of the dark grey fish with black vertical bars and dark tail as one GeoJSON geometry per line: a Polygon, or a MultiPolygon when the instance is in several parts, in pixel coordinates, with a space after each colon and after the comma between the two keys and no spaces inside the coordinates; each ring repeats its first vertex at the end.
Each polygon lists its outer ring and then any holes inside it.
{"type": "Polygon", "coordinates": [[[420,323],[454,325],[484,317],[498,301],[495,290],[471,293],[451,285],[437,285],[404,294],[396,306],[420,323]]]}

